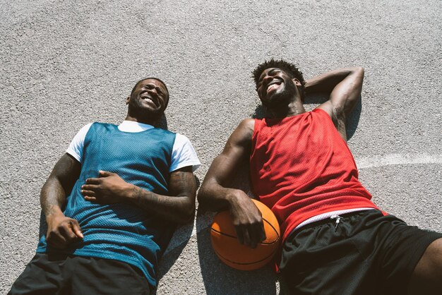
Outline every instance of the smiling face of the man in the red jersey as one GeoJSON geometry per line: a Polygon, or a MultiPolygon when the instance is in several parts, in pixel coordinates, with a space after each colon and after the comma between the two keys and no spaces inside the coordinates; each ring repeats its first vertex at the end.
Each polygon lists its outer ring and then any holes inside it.
{"type": "Polygon", "coordinates": [[[266,68],[258,79],[256,92],[265,107],[273,107],[289,100],[296,93],[297,83],[280,68],[266,68]]]}

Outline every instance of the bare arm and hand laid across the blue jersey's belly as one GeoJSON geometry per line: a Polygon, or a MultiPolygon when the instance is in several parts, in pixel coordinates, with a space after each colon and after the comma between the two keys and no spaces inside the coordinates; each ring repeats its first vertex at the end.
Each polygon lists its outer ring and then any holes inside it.
{"type": "Polygon", "coordinates": [[[86,179],[81,193],[97,203],[132,203],[152,215],[172,222],[189,222],[195,215],[196,180],[192,167],[170,174],[169,194],[147,191],[121,179],[118,174],[100,171],[100,177],[86,179]]]}

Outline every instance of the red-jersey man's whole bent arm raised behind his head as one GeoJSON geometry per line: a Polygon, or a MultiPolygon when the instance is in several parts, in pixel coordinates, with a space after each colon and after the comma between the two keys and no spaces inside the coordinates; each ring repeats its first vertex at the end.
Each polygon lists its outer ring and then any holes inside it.
{"type": "Polygon", "coordinates": [[[327,112],[341,137],[347,140],[345,123],[361,96],[364,68],[339,68],[306,81],[306,92],[330,93],[327,102],[318,108],[327,112]]]}

